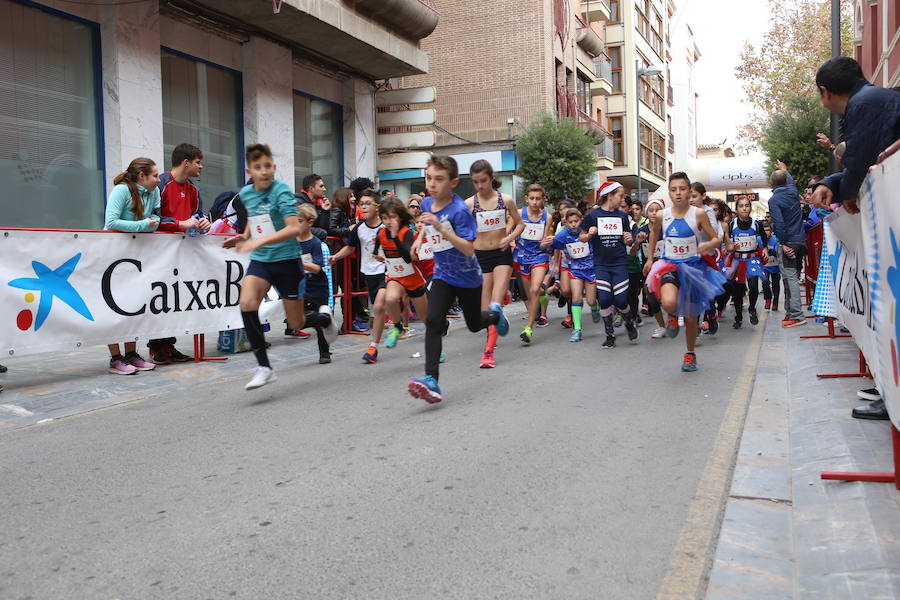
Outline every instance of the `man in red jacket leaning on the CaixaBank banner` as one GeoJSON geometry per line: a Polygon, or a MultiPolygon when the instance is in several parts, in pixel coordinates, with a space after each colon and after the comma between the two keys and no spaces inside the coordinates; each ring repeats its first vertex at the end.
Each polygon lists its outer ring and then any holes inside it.
{"type": "MultiPolygon", "coordinates": [[[[172,169],[159,177],[160,220],[157,231],[208,231],[210,222],[203,216],[200,190],[190,180],[203,170],[203,153],[193,144],[178,144],[172,150],[172,169]]],[[[175,338],[150,340],[150,360],[158,365],[186,362],[190,356],[175,349],[175,338]]]]}

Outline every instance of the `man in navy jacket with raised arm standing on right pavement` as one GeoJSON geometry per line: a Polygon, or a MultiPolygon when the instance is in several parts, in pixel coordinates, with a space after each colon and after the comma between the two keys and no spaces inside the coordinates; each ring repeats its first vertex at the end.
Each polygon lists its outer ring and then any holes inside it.
{"type": "Polygon", "coordinates": [[[785,317],[782,327],[806,325],[800,304],[800,269],[806,254],[806,234],[803,232],[803,208],[797,184],[788,173],[787,165],[778,161],[778,170],[772,173],[772,197],[769,212],[772,215],[772,232],[778,237],[778,261],[784,281],[785,317]]]}

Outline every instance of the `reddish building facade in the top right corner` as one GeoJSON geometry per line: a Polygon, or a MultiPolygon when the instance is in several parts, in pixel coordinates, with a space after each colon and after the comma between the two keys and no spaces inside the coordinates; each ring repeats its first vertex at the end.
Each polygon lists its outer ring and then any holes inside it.
{"type": "Polygon", "coordinates": [[[855,58],[866,78],[881,87],[900,86],[900,2],[856,0],[855,58]]]}

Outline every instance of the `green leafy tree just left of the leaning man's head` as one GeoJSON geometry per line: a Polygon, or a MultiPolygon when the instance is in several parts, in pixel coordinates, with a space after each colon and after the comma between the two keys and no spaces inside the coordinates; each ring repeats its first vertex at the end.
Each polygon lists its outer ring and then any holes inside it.
{"type": "Polygon", "coordinates": [[[820,131],[828,131],[828,111],[818,97],[787,97],[781,112],[761,131],[759,145],[768,157],[766,171],[775,170],[775,161],[784,161],[801,189],[810,177],[827,174],[828,153],[815,143],[820,131]]]}

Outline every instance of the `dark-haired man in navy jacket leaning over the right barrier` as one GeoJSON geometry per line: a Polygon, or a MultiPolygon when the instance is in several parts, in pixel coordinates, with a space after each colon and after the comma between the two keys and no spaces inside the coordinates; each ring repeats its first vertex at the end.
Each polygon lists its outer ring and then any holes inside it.
{"type": "Polygon", "coordinates": [[[819,67],[816,86],[822,106],[843,115],[846,150],[844,170],[823,179],[813,190],[812,201],[822,208],[837,202],[857,213],[859,187],[869,167],[900,139],[900,94],[870,84],[849,56],[832,58],[819,67]]]}

